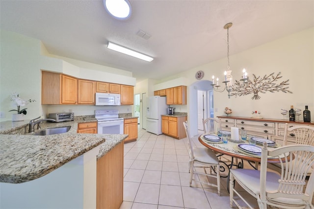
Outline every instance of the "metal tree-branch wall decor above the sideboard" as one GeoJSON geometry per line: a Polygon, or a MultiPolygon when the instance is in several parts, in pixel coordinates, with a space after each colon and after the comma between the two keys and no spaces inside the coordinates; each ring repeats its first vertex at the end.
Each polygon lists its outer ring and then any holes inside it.
{"type": "Polygon", "coordinates": [[[259,100],[261,99],[259,93],[265,94],[266,92],[275,93],[276,91],[281,91],[292,94],[292,92],[288,90],[289,87],[287,86],[289,85],[289,79],[284,80],[279,84],[276,83],[278,79],[282,78],[280,74],[281,72],[279,72],[277,76],[274,76],[274,73],[272,73],[269,76],[265,75],[264,77],[256,77],[253,74],[253,80],[247,79],[243,83],[235,80],[230,96],[245,96],[253,93],[254,96],[252,97],[252,100],[259,100]]]}

